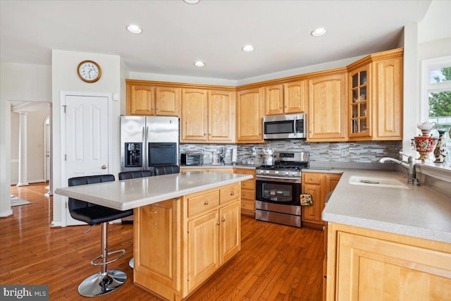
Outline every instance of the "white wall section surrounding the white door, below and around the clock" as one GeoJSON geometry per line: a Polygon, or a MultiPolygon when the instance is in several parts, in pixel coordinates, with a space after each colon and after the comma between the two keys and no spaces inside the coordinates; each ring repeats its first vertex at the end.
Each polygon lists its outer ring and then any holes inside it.
{"type": "MultiPolygon", "coordinates": [[[[121,78],[123,68],[121,68],[121,57],[106,54],[91,54],[75,51],[52,51],[52,117],[53,117],[53,178],[54,190],[60,187],[66,187],[67,183],[62,183],[61,180],[61,92],[98,92],[110,93],[112,96],[117,94],[117,101],[111,102],[112,115],[112,160],[113,166],[111,173],[117,175],[120,171],[120,126],[121,120],[121,102],[125,102],[125,92],[121,91],[123,83],[121,78]],[[78,78],[77,66],[81,61],[92,60],[96,61],[101,67],[101,78],[97,82],[87,83],[78,78]],[[119,99],[121,97],[121,99],[119,99]]],[[[61,216],[62,198],[54,194],[54,226],[64,226],[66,216],[61,216]]]]}

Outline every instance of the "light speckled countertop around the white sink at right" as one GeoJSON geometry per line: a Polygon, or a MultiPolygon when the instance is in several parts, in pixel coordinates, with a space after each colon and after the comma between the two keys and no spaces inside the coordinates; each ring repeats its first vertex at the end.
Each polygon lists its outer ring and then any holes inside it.
{"type": "Polygon", "coordinates": [[[451,243],[451,198],[407,184],[404,173],[397,171],[344,170],[322,219],[451,243]],[[351,176],[393,178],[407,189],[352,185],[351,176]]]}

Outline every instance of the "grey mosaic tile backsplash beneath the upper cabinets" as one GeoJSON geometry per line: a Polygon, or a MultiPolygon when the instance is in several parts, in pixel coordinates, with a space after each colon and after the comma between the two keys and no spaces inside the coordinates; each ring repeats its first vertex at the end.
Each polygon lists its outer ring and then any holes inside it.
{"type": "Polygon", "coordinates": [[[211,164],[213,153],[219,152],[219,147],[227,147],[226,164],[232,162],[232,149],[237,149],[237,162],[243,159],[254,159],[255,164],[261,163],[263,149],[273,149],[276,152],[297,151],[309,152],[311,162],[340,163],[376,163],[383,156],[399,158],[401,141],[361,141],[361,142],[305,142],[305,140],[274,140],[265,144],[245,145],[204,145],[180,144],[180,153],[195,152],[204,149],[204,164],[211,164]],[[252,149],[257,152],[252,154],[252,149]]]}

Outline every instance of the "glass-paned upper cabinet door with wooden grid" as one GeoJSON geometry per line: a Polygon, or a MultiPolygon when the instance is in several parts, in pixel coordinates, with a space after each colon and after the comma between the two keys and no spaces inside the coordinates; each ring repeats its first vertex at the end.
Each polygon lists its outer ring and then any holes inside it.
{"type": "Polygon", "coordinates": [[[350,137],[371,137],[370,131],[370,82],[371,65],[349,73],[350,82],[350,137]]]}

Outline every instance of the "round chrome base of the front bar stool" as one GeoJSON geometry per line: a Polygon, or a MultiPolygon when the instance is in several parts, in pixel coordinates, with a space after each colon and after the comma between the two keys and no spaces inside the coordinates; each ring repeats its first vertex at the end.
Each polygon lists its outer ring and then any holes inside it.
{"type": "Polygon", "coordinates": [[[111,293],[127,280],[123,271],[109,270],[106,274],[97,273],[86,278],[78,285],[78,293],[85,297],[97,297],[111,293]]]}

